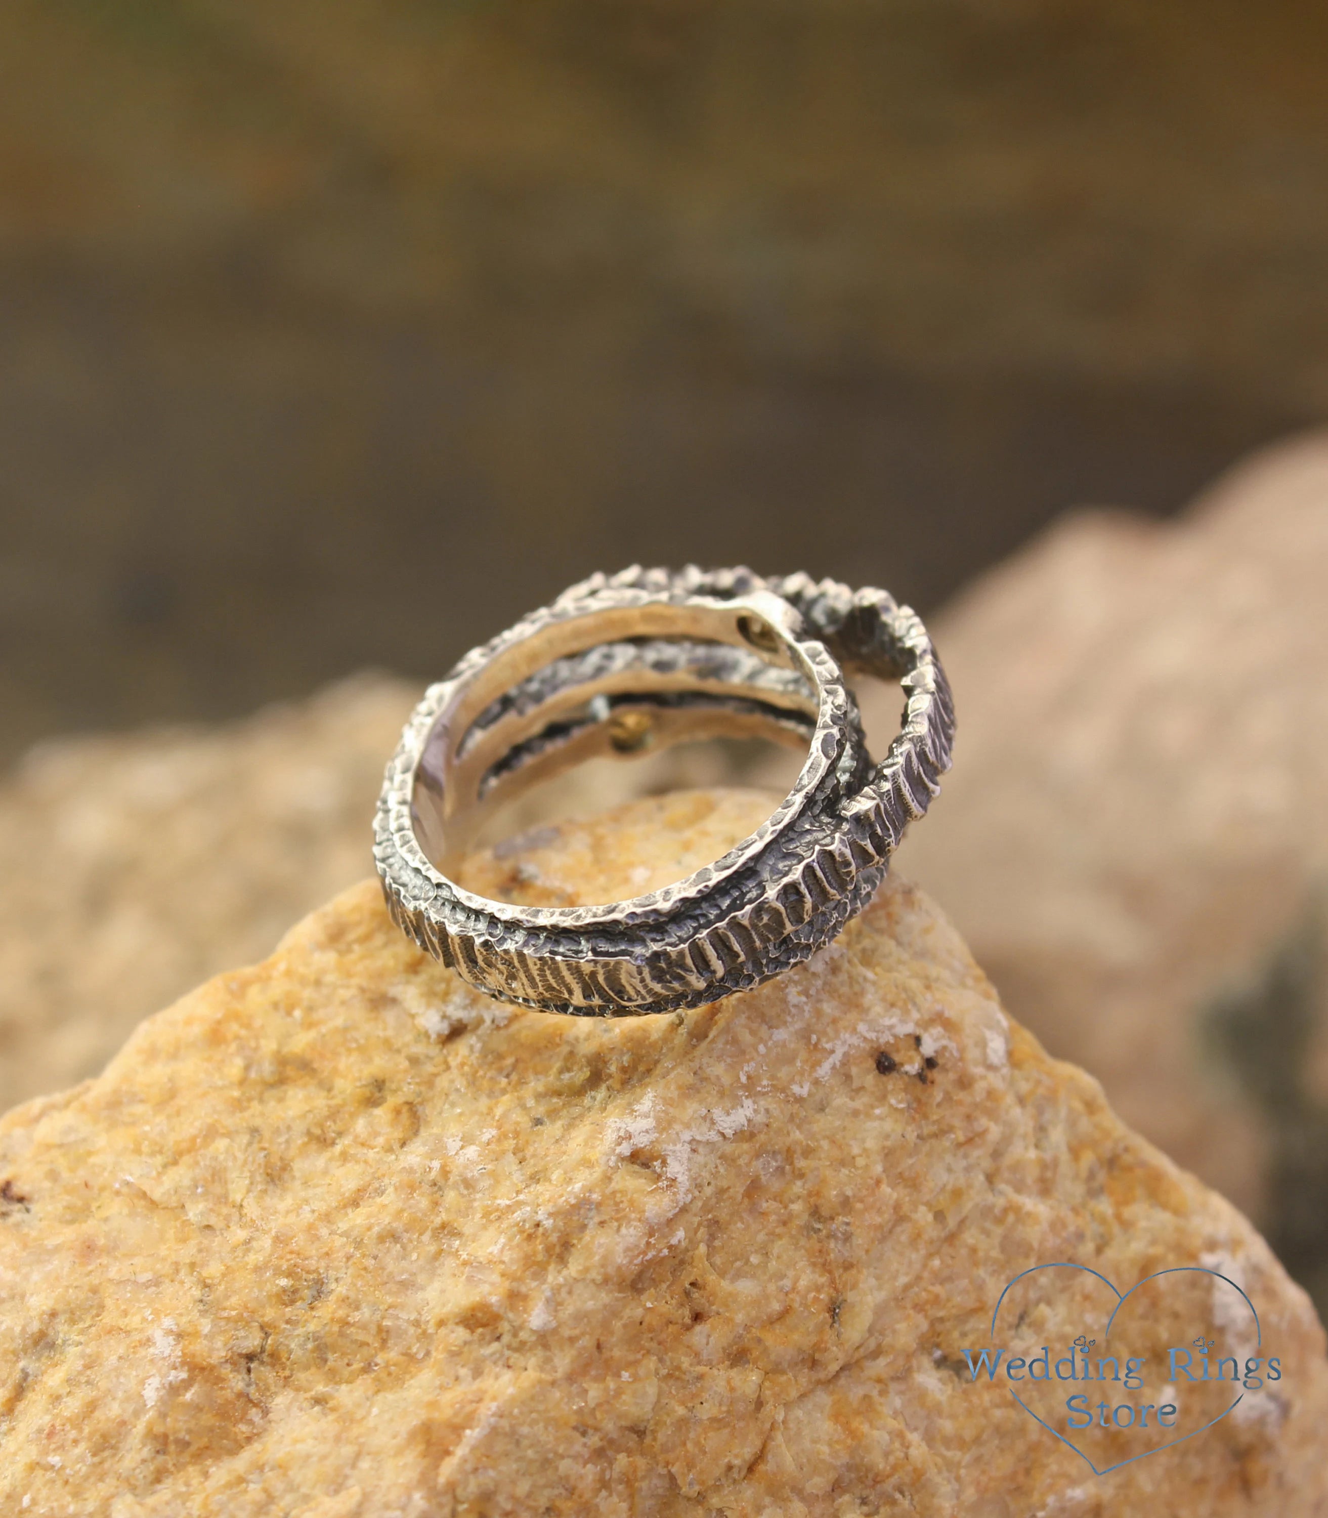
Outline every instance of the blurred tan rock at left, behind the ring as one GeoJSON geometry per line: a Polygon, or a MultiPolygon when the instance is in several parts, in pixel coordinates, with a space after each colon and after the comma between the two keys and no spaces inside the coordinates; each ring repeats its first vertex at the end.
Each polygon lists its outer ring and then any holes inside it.
{"type": "MultiPolygon", "coordinates": [[[[222,727],[35,748],[0,786],[0,1110],[96,1073],[140,1019],[370,874],[382,767],[419,694],[358,676],[222,727]]],[[[694,745],[601,761],[510,823],[724,777],[694,745]]]]}

